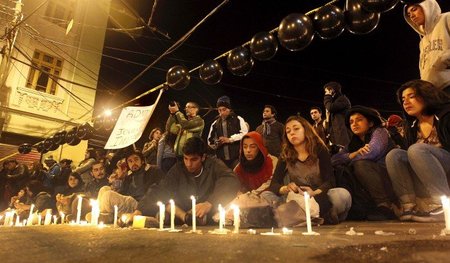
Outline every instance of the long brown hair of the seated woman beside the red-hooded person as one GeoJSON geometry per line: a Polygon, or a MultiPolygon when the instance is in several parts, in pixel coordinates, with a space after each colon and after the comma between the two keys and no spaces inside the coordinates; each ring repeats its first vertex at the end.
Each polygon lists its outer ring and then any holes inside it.
{"type": "MultiPolygon", "coordinates": [[[[315,163],[315,161],[317,160],[319,149],[322,147],[326,148],[325,143],[322,141],[319,135],[317,135],[311,124],[309,124],[309,122],[304,118],[300,116],[291,116],[286,120],[285,126],[291,121],[298,121],[303,126],[303,129],[305,130],[305,149],[309,153],[309,158],[311,160],[310,163],[315,163]]],[[[289,142],[286,130],[283,134],[283,150],[281,151],[280,157],[283,160],[286,160],[289,165],[294,165],[298,159],[298,152],[289,142]]]]}

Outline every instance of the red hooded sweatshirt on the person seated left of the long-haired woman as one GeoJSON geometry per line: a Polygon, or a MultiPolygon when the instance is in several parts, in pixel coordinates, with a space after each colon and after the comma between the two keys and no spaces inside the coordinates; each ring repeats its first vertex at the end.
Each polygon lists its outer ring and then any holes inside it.
{"type": "Polygon", "coordinates": [[[239,161],[239,164],[235,168],[235,173],[237,174],[239,181],[241,182],[241,191],[256,190],[272,177],[272,158],[270,158],[270,156],[268,155],[267,148],[264,147],[261,134],[257,132],[249,132],[242,138],[239,161]],[[261,167],[255,172],[250,172],[248,170],[246,171],[246,169],[244,169],[243,167],[243,163],[245,162],[245,160],[243,161],[243,159],[245,159],[243,146],[244,139],[247,137],[252,138],[255,141],[260,153],[264,158],[264,162],[262,163],[261,167]]]}

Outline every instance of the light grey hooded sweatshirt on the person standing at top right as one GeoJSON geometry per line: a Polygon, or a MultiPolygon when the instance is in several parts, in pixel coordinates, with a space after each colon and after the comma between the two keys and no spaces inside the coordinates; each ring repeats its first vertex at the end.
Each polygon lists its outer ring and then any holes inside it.
{"type": "Polygon", "coordinates": [[[425,0],[418,5],[425,15],[424,26],[417,26],[408,17],[408,5],[403,8],[403,16],[421,37],[420,78],[444,89],[450,86],[450,13],[442,14],[436,0],[425,0]]]}

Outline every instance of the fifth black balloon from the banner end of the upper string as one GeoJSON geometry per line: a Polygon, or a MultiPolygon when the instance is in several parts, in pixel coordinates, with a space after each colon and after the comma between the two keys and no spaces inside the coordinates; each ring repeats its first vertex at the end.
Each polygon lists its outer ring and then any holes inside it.
{"type": "Polygon", "coordinates": [[[304,14],[290,14],[278,27],[280,44],[290,51],[306,48],[314,38],[314,27],[311,19],[304,14]]]}

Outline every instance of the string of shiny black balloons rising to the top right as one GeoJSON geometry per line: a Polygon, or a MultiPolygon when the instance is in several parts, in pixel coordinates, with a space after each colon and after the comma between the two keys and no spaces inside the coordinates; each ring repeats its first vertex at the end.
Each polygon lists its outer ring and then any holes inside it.
{"type": "MultiPolygon", "coordinates": [[[[185,89],[190,83],[190,73],[197,70],[205,84],[218,84],[223,76],[223,68],[218,60],[223,57],[227,57],[226,66],[231,74],[246,76],[251,72],[254,60],[267,61],[276,55],[278,43],[289,51],[301,51],[311,44],[315,33],[325,40],[337,38],[345,29],[357,35],[368,34],[378,26],[380,14],[393,9],[399,1],[346,0],[342,10],[335,5],[338,0],[334,0],[306,14],[290,14],[277,28],[259,32],[250,41],[214,59],[206,60],[197,68],[188,70],[182,65],[170,68],[166,74],[166,85],[175,90],[185,89]]],[[[401,0],[403,4],[422,1],[401,0]]]]}

